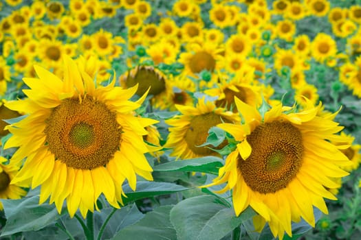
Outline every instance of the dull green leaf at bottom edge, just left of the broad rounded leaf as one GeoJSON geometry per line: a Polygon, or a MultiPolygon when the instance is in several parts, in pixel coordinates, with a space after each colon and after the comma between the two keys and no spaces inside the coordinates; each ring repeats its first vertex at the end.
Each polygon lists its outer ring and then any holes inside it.
{"type": "Polygon", "coordinates": [[[177,239],[175,229],[169,219],[172,206],[160,206],[138,223],[127,226],[120,230],[113,239],[133,240],[133,239],[177,239]]]}

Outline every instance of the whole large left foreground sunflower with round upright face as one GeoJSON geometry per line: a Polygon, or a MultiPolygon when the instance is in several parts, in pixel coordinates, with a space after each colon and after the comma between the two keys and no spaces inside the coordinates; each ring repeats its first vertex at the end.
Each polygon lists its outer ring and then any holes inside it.
{"type": "Polygon", "coordinates": [[[135,174],[152,180],[143,136],[144,127],[157,121],[134,115],[145,99],[128,100],[136,86],[116,87],[113,77],[111,84],[97,88],[74,60],[65,56],[64,63],[64,80],[39,66],[34,67],[39,79],[23,79],[30,87],[24,90],[28,99],[6,106],[28,117],[7,126],[12,137],[4,147],[19,147],[12,162],[26,158],[12,183],[41,185],[39,204],[50,197],[60,213],[67,200],[71,217],[78,208],[85,217],[102,193],[119,208],[124,180],[131,189],[135,174]]]}

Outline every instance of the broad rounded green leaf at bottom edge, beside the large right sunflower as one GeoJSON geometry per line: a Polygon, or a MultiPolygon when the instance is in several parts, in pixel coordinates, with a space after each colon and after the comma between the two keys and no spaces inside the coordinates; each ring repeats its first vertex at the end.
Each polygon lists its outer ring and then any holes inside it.
{"type": "Polygon", "coordinates": [[[233,209],[221,204],[218,197],[201,195],[175,205],[171,222],[177,230],[177,239],[212,240],[221,239],[254,215],[248,208],[236,217],[233,209]]]}

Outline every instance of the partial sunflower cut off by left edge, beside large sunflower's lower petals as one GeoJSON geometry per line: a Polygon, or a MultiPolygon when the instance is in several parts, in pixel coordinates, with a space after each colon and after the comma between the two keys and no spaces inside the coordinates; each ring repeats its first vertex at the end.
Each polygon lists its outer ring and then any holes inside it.
{"type": "MultiPolygon", "coordinates": [[[[19,167],[13,164],[5,164],[8,159],[0,156],[0,199],[20,199],[26,195],[26,191],[21,187],[27,187],[26,184],[14,184],[12,179],[17,175],[19,167]],[[11,182],[11,183],[10,183],[11,182]]],[[[0,202],[0,210],[3,210],[3,204],[0,202]]]]}

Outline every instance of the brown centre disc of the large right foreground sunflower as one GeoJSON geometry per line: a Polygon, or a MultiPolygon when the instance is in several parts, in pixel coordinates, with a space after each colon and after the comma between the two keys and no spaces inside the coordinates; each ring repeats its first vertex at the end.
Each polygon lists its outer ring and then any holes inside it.
{"type": "Polygon", "coordinates": [[[287,187],[302,165],[300,131],[291,123],[274,121],[259,125],[247,141],[252,153],[246,160],[239,156],[238,167],[248,187],[259,193],[287,187]]]}

